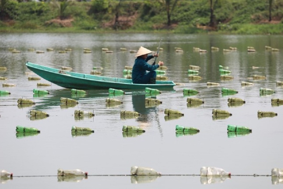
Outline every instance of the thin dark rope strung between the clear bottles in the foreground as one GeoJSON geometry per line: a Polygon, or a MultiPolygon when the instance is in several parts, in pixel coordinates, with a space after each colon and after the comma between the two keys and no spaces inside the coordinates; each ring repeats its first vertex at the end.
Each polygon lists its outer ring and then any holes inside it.
{"type": "MultiPolygon", "coordinates": [[[[70,175],[73,176],[74,175],[70,175]]],[[[85,176],[85,175],[82,175],[85,176]]],[[[128,177],[128,176],[136,176],[131,174],[106,174],[106,175],[87,175],[87,177],[128,177]]],[[[137,176],[155,176],[155,175],[137,175],[137,176]]],[[[156,176],[201,176],[200,174],[164,174],[164,175],[156,175],[156,176]]],[[[58,176],[58,175],[26,175],[26,176],[14,176],[13,177],[68,177],[68,176],[58,176]]],[[[217,177],[217,176],[216,176],[217,177]]],[[[231,177],[271,177],[271,175],[258,175],[258,174],[252,174],[252,175],[244,175],[244,174],[238,174],[238,175],[231,175],[231,177]]]]}

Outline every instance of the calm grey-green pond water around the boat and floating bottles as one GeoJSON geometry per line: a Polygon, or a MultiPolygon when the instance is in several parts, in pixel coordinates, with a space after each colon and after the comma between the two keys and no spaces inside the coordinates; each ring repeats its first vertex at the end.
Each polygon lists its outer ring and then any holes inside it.
{"type": "MultiPolygon", "coordinates": [[[[1,187],[172,188],[190,185],[202,188],[212,182],[210,188],[232,189],[267,188],[276,184],[270,175],[272,168],[283,168],[280,147],[283,105],[272,105],[271,99],[283,98],[283,88],[276,85],[277,81],[283,80],[283,36],[2,33],[0,41],[0,67],[7,67],[6,71],[0,71],[0,77],[8,78],[1,80],[0,88],[11,93],[0,96],[0,169],[14,174],[12,180],[1,179],[1,187]],[[176,85],[174,90],[161,90],[161,94],[153,97],[162,101],[160,105],[145,106],[145,91],[126,90],[125,95],[115,96],[123,102],[121,105],[107,106],[108,90],[87,90],[85,96],[73,96],[70,89],[55,84],[37,87],[38,82],[50,83],[43,78],[28,80],[37,75],[32,75],[26,68],[26,61],[54,68],[68,66],[79,73],[90,73],[94,66],[102,67],[103,76],[124,77],[125,66],[132,66],[135,60],[135,54],[129,50],[143,46],[156,51],[160,39],[163,50],[157,61],[162,60],[168,67],[164,76],[183,84],[176,85]],[[211,46],[218,47],[219,51],[211,51],[211,46]],[[256,51],[248,52],[248,46],[256,51]],[[265,46],[280,51],[266,50],[265,46]],[[182,48],[183,52],[176,52],[175,47],[182,48]],[[194,52],[194,47],[207,52],[194,52]],[[229,47],[237,50],[223,51],[229,47]],[[12,53],[9,48],[16,48],[20,53],[12,53]],[[44,53],[30,52],[29,48],[44,53]],[[47,48],[54,51],[47,52],[47,48]],[[58,53],[65,48],[72,51],[58,53]],[[92,52],[83,53],[83,48],[90,48],[92,52]],[[105,53],[102,48],[109,48],[113,53],[105,53]],[[120,48],[127,48],[127,51],[120,51],[120,48]],[[201,67],[198,74],[201,80],[189,79],[189,65],[201,67]],[[229,67],[232,80],[221,79],[219,65],[229,67]],[[266,79],[254,80],[253,75],[266,79]],[[242,81],[253,85],[243,87],[242,81]],[[219,86],[209,87],[207,82],[219,83],[219,86]],[[2,83],[16,86],[2,87],[2,83]],[[222,87],[235,89],[238,93],[222,94],[222,87]],[[260,87],[276,93],[262,95],[260,87]],[[199,93],[187,96],[183,94],[184,88],[199,93]],[[50,94],[35,96],[33,89],[47,90],[50,94]],[[64,107],[60,104],[61,97],[76,99],[79,104],[64,107]],[[241,98],[246,103],[230,105],[227,102],[230,97],[241,98]],[[19,98],[31,99],[36,104],[19,106],[19,98]],[[203,99],[204,104],[187,104],[187,98],[203,99]],[[32,119],[29,112],[33,109],[50,116],[32,119]],[[95,116],[77,119],[74,111],[78,109],[93,112],[95,116]],[[179,110],[184,116],[168,118],[165,109],[179,110]],[[232,116],[215,119],[212,109],[227,110],[232,116]],[[124,119],[120,117],[121,110],[137,111],[142,115],[124,119]],[[278,116],[260,118],[258,110],[276,112],[278,116]],[[248,127],[252,133],[228,134],[229,124],[248,127]],[[40,134],[20,136],[16,134],[18,125],[35,127],[40,134]],[[145,133],[123,134],[123,125],[141,127],[145,133]],[[196,127],[200,132],[176,134],[176,125],[196,127]],[[72,126],[89,127],[94,133],[72,136],[72,126]],[[163,176],[131,177],[131,166],[150,167],[163,176]],[[199,176],[202,166],[219,167],[232,176],[222,180],[202,178],[199,176]],[[89,176],[87,179],[62,179],[56,176],[59,168],[81,169],[89,176]],[[251,176],[253,174],[261,177],[251,176]]],[[[280,184],[276,186],[280,187],[280,184]]]]}

